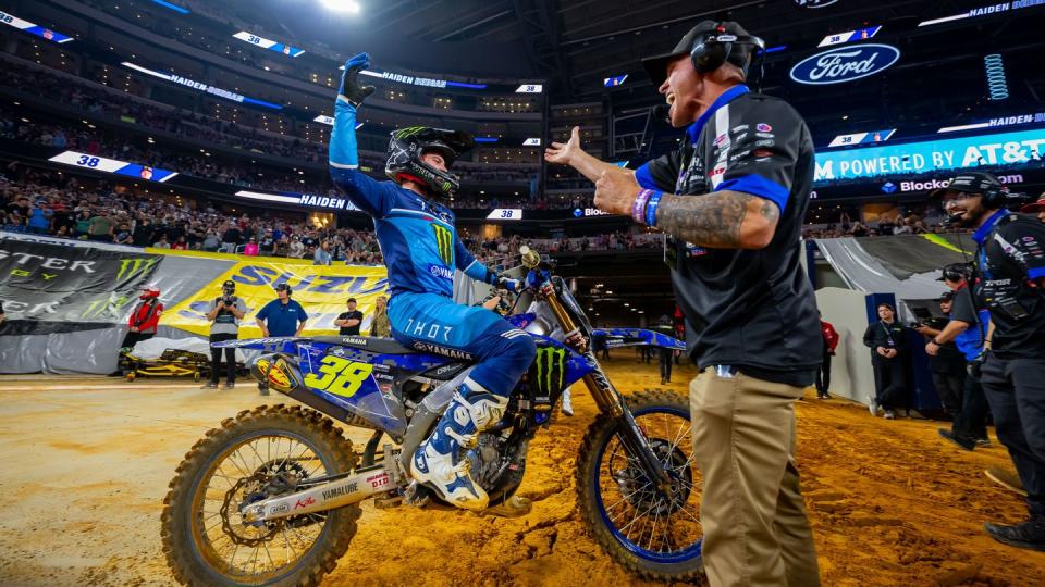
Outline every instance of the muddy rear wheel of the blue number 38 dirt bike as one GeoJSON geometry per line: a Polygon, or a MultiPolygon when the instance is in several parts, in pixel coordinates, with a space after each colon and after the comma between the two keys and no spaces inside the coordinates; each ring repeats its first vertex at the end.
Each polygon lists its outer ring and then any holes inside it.
{"type": "Polygon", "coordinates": [[[317,585],[356,534],[359,505],[245,523],[253,502],[305,479],[346,473],[352,444],[299,407],[262,405],[228,419],[185,455],[163,500],[163,551],[185,585],[317,585]]]}

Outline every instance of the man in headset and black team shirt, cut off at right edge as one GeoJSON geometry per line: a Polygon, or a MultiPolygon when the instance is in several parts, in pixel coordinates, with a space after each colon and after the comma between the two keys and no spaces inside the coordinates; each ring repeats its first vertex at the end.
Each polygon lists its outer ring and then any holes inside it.
{"type": "Polygon", "coordinates": [[[980,280],[991,311],[980,365],[998,439],[1026,489],[1030,520],[984,524],[995,540],[1045,550],[1045,225],[1005,209],[1008,193],[987,173],[964,173],[930,193],[955,224],[973,227],[980,280]]]}

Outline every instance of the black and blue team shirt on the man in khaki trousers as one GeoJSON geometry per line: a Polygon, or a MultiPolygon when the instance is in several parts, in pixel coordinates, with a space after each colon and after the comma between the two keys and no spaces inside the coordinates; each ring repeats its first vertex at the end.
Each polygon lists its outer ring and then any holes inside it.
{"type": "Polygon", "coordinates": [[[677,151],[636,170],[649,189],[692,198],[741,191],[780,211],[764,249],[709,249],[668,239],[665,260],[688,323],[689,352],[701,369],[734,365],[771,382],[813,383],[823,342],[813,288],[799,260],[814,165],[809,128],[795,109],[741,85],[687,128],[677,151]]]}

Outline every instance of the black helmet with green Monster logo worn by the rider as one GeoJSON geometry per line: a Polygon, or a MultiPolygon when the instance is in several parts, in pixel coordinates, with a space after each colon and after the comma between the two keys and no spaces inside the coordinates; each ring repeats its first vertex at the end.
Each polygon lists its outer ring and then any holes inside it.
{"type": "Polygon", "coordinates": [[[384,173],[394,182],[417,182],[434,196],[448,198],[460,187],[460,179],[421,161],[421,155],[435,151],[443,155],[446,166],[453,165],[458,155],[476,146],[471,135],[459,130],[445,130],[426,126],[410,126],[392,132],[389,141],[389,159],[384,173]]]}

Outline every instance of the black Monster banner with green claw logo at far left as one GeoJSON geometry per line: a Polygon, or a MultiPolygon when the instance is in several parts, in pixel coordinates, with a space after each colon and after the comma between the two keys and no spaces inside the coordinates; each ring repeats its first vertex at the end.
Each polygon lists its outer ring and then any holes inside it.
{"type": "Polygon", "coordinates": [[[0,300],[8,320],[22,321],[22,334],[118,324],[160,259],[0,239],[0,300]]]}

